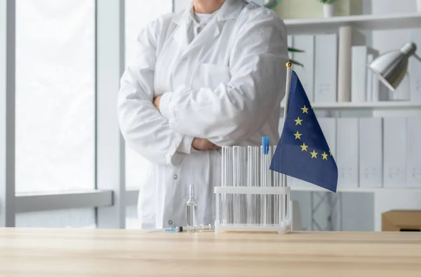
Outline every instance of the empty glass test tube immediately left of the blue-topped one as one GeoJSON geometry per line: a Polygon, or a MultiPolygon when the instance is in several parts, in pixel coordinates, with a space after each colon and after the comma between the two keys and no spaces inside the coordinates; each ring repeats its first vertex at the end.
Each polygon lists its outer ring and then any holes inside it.
{"type": "MultiPolygon", "coordinates": [[[[260,147],[249,146],[247,153],[247,186],[260,187],[260,147]]],[[[260,224],[260,196],[247,196],[247,224],[260,224]]]]}

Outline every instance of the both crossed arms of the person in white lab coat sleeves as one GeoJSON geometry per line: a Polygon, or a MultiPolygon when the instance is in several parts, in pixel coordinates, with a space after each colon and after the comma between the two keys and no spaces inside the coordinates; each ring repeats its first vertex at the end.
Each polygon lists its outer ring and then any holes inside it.
{"type": "Polygon", "coordinates": [[[230,55],[232,79],[215,89],[175,88],[165,108],[153,88],[160,25],[152,22],[140,34],[138,60],[121,79],[119,122],[126,142],[149,161],[175,165],[192,147],[233,145],[258,132],[283,97],[283,22],[267,13],[244,22],[230,55]]]}

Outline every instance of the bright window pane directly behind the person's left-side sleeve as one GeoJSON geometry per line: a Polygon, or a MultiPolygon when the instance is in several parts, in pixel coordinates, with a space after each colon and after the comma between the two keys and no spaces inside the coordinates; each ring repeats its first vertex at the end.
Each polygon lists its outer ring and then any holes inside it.
{"type": "MultiPolygon", "coordinates": [[[[136,39],[148,22],[161,14],[171,13],[172,0],[126,0],[126,63],[136,55],[136,39]]],[[[126,147],[126,188],[139,189],[145,180],[149,162],[130,147],[126,147]]]]}

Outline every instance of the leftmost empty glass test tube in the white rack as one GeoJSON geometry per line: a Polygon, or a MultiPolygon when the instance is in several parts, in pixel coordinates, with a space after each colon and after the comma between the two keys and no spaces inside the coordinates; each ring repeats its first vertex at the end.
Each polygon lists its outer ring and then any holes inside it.
{"type": "MultiPolygon", "coordinates": [[[[222,147],[222,187],[233,184],[232,147],[222,147]]],[[[232,224],[232,194],[221,194],[221,224],[232,224]]]]}

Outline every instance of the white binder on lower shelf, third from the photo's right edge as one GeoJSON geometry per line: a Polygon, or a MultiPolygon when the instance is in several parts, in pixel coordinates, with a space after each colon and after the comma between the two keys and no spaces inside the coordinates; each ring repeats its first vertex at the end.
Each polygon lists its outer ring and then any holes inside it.
{"type": "Polygon", "coordinates": [[[383,180],[382,118],[359,119],[359,184],[380,188],[383,180]]]}

